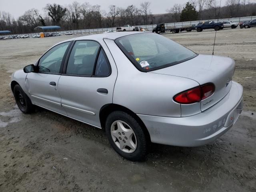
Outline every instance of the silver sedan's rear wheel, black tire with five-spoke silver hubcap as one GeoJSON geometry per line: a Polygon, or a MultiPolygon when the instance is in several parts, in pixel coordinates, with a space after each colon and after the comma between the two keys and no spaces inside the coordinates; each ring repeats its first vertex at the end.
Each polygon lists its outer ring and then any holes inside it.
{"type": "Polygon", "coordinates": [[[110,113],[106,119],[105,129],[111,146],[120,156],[131,161],[142,161],[145,159],[148,145],[146,133],[137,120],[130,114],[123,111],[114,111],[110,113]],[[117,126],[117,124],[120,124],[120,126],[117,126]],[[123,127],[128,131],[123,131],[120,127],[123,127]],[[126,136],[128,136],[128,138],[126,136]],[[134,149],[126,145],[128,143],[134,149]],[[124,147],[123,150],[120,149],[120,144],[124,147]]]}

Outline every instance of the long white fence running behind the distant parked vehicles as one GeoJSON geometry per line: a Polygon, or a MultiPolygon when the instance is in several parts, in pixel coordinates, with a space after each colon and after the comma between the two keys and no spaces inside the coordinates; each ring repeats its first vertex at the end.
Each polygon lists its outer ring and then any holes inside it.
{"type": "MultiPolygon", "coordinates": [[[[222,21],[232,21],[232,22],[240,22],[240,21],[246,21],[246,20],[254,20],[256,19],[256,16],[250,16],[250,17],[237,17],[237,18],[226,18],[226,19],[219,19],[219,22],[222,21]]],[[[198,20],[198,21],[187,21],[187,22],[175,22],[175,23],[166,23],[166,26],[176,26],[176,27],[182,27],[182,26],[186,26],[186,25],[193,25],[193,24],[198,24],[199,22],[201,22],[202,20],[198,20]]],[[[204,20],[204,21],[214,21],[217,22],[217,19],[215,20],[204,20]]],[[[152,31],[153,28],[156,27],[156,24],[153,25],[140,25],[140,27],[145,28],[148,31],[152,31]]],[[[82,34],[97,34],[97,33],[103,33],[105,31],[108,30],[116,30],[116,27],[113,28],[98,28],[98,29],[83,29],[83,30],[68,30],[68,31],[58,31],[60,34],[64,35],[66,32],[72,32],[73,34],[77,34],[77,35],[82,35],[82,34]]],[[[36,35],[38,33],[30,33],[27,34],[30,37],[36,35]]],[[[19,35],[25,35],[25,34],[19,34],[19,35]]],[[[8,36],[8,35],[6,35],[8,36]]]]}

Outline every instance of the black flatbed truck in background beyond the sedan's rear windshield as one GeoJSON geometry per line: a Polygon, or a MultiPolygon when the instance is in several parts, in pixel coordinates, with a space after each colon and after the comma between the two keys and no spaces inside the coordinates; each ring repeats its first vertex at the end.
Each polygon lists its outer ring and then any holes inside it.
{"type": "Polygon", "coordinates": [[[172,33],[178,33],[182,31],[192,31],[195,30],[195,25],[186,25],[182,27],[176,27],[176,26],[165,26],[164,23],[157,24],[156,27],[152,30],[153,33],[165,33],[166,31],[170,31],[172,33]]]}

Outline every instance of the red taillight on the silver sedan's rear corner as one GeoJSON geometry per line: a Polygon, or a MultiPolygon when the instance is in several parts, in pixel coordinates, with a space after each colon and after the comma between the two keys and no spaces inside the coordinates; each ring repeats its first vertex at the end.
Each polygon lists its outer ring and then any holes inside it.
{"type": "Polygon", "coordinates": [[[174,101],[180,104],[192,104],[200,102],[210,97],[215,90],[215,86],[212,83],[204,84],[184,92],[181,92],[174,96],[174,101]]]}

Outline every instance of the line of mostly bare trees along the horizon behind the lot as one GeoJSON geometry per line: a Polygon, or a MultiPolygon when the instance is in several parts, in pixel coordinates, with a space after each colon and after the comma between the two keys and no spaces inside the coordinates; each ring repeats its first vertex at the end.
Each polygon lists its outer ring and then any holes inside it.
{"type": "MultiPolygon", "coordinates": [[[[100,5],[77,1],[62,6],[46,4],[44,14],[37,9],[27,10],[15,19],[8,12],[0,11],[0,30],[10,30],[14,34],[34,32],[37,26],[58,25],[62,30],[80,30],[108,28],[124,24],[147,25],[161,22],[180,22],[208,20],[218,17],[219,0],[190,0],[185,5],[174,4],[166,14],[152,14],[150,2],[142,2],[139,7],[129,5],[126,8],[110,5],[108,10],[101,10],[100,5]]],[[[256,4],[246,0],[226,0],[220,7],[220,18],[255,16],[256,4]]]]}

